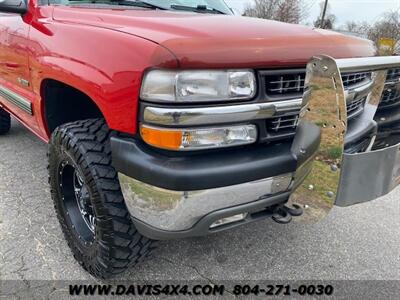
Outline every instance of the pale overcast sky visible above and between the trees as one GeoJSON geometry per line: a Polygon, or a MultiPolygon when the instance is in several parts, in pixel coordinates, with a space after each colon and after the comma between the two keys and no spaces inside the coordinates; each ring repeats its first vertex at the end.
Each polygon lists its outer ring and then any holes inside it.
{"type": "MultiPolygon", "coordinates": [[[[311,6],[310,16],[306,20],[312,23],[320,14],[321,0],[304,0],[311,6]]],[[[246,4],[252,0],[226,0],[233,8],[242,12],[246,4]]],[[[329,0],[331,12],[337,16],[337,25],[344,25],[348,21],[367,21],[374,23],[382,18],[388,10],[400,11],[400,0],[329,0]]]]}

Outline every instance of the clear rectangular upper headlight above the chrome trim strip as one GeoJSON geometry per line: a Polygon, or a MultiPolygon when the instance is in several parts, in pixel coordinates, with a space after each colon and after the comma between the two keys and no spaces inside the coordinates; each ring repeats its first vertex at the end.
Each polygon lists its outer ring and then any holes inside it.
{"type": "Polygon", "coordinates": [[[251,70],[153,70],[144,77],[140,96],[148,101],[206,102],[250,99],[255,94],[251,70]]]}

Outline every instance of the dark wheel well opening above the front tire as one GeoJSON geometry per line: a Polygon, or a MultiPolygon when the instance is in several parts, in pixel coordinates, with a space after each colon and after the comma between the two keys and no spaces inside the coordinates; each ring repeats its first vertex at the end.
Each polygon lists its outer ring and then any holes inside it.
{"type": "Polygon", "coordinates": [[[100,109],[89,96],[62,82],[46,80],[42,86],[42,94],[50,134],[65,123],[103,118],[100,109]]]}

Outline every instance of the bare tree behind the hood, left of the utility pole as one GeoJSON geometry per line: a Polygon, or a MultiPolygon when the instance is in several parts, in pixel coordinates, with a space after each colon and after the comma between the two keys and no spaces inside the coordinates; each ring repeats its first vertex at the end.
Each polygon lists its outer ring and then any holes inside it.
{"type": "Polygon", "coordinates": [[[303,0],[255,0],[244,11],[245,16],[300,23],[307,17],[308,9],[303,0]]]}

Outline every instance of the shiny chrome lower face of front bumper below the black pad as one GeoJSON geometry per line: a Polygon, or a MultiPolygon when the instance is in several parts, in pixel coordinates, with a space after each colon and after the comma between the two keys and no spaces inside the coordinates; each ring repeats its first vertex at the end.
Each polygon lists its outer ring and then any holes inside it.
{"type": "MultiPolygon", "coordinates": [[[[287,192],[292,179],[293,174],[286,174],[222,188],[172,191],[119,174],[125,202],[134,220],[140,220],[158,230],[175,232],[189,230],[210,213],[287,192]]],[[[251,211],[243,212],[247,213],[251,211]]],[[[210,227],[215,225],[213,223],[210,227]]]]}

